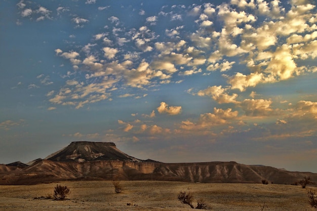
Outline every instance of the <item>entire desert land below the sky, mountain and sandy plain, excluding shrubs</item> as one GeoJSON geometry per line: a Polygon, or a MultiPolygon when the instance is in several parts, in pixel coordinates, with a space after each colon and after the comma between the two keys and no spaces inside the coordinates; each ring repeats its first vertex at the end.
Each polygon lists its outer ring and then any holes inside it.
{"type": "Polygon", "coordinates": [[[214,211],[313,210],[307,190],[317,190],[315,173],[234,161],[141,160],[108,142],[72,142],[44,159],[0,167],[0,210],[7,211],[192,210],[181,192],[193,196],[194,208],[202,200],[214,211]],[[54,197],[57,186],[69,189],[65,199],[54,197]]]}

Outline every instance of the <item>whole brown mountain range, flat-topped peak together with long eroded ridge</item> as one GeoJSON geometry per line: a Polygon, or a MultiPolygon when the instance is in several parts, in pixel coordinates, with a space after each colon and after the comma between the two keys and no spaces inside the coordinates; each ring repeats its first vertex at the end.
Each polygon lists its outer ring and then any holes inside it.
{"type": "Polygon", "coordinates": [[[289,172],[264,165],[246,165],[234,161],[162,163],[141,160],[116,148],[111,142],[71,142],[65,148],[36,159],[0,164],[0,185],[27,185],[63,180],[163,180],[203,183],[293,184],[317,174],[289,172]]]}

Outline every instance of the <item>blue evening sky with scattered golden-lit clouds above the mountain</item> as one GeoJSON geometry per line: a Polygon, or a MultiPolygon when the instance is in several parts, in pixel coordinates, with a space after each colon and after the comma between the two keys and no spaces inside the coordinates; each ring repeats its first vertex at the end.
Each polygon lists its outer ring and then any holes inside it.
{"type": "Polygon", "coordinates": [[[72,141],[317,173],[313,0],[0,0],[0,163],[72,141]]]}

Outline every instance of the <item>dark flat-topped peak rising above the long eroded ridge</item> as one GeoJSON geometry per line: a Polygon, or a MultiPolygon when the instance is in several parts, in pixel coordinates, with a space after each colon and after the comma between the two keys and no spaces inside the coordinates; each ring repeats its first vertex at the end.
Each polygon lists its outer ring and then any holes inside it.
{"type": "Polygon", "coordinates": [[[112,142],[71,142],[45,159],[51,161],[129,160],[141,161],[118,150],[112,142]]]}

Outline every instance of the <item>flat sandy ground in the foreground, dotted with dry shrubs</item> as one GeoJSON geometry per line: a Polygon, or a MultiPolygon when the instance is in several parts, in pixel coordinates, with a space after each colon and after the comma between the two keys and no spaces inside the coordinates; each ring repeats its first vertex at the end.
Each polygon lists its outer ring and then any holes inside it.
{"type": "MultiPolygon", "coordinates": [[[[204,199],[209,210],[268,211],[314,210],[308,204],[307,187],[275,184],[198,184],[158,181],[121,181],[115,193],[111,181],[65,181],[66,200],[34,199],[53,195],[56,183],[32,186],[0,186],[0,210],[193,210],[177,200],[180,191],[204,199]],[[131,205],[127,205],[131,203],[131,205]],[[133,205],[135,204],[135,205],[133,205]],[[263,207],[264,205],[264,207],[263,207]],[[262,206],[262,207],[261,207],[262,206]]],[[[317,188],[312,188],[317,192],[317,188]]],[[[197,210],[197,209],[195,209],[197,210]]]]}

